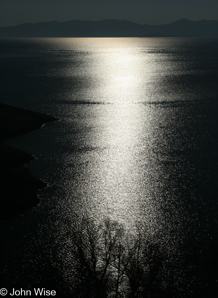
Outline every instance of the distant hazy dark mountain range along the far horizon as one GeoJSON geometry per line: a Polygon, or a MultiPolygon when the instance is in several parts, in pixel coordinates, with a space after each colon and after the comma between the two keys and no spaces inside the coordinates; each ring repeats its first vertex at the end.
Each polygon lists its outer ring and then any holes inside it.
{"type": "Polygon", "coordinates": [[[44,22],[0,27],[0,37],[209,37],[218,36],[218,21],[181,19],[166,25],[126,20],[44,22]]]}

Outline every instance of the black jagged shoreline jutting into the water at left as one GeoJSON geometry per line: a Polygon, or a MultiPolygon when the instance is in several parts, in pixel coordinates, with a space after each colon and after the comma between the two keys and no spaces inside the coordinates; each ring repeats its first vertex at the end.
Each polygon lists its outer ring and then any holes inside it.
{"type": "Polygon", "coordinates": [[[32,209],[39,203],[36,192],[47,186],[23,167],[34,160],[34,156],[4,141],[56,120],[59,119],[0,103],[0,220],[32,209]]]}

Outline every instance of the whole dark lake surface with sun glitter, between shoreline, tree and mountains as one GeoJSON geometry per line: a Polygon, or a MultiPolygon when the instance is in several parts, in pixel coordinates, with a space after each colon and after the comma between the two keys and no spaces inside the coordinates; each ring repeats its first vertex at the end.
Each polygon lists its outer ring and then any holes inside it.
{"type": "Polygon", "coordinates": [[[71,227],[110,219],[161,243],[177,262],[178,293],[190,287],[191,297],[197,280],[212,297],[218,39],[0,39],[0,67],[2,103],[60,118],[8,141],[37,157],[28,168],[49,187],[34,210],[1,224],[2,285],[35,287],[48,272],[75,288],[71,227]],[[179,271],[190,251],[187,283],[179,271]]]}

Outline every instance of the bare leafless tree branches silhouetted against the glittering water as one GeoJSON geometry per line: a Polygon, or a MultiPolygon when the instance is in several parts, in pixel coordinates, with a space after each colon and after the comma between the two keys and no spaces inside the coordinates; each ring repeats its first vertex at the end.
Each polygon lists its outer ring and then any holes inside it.
{"type": "Polygon", "coordinates": [[[80,297],[152,297],[163,259],[142,228],[128,235],[122,225],[87,221],[76,231],[80,297]]]}

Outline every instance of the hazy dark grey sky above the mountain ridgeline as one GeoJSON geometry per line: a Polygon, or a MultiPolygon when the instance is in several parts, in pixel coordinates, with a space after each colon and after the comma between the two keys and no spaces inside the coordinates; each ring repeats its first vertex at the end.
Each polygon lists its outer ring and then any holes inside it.
{"type": "Polygon", "coordinates": [[[183,18],[218,19],[218,0],[0,0],[0,26],[72,19],[153,25],[183,18]]]}

